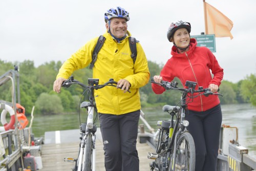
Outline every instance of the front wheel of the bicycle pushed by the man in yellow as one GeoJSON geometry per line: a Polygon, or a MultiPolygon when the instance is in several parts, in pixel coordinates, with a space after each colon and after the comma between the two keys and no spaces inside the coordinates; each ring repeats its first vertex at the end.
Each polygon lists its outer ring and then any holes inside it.
{"type": "Polygon", "coordinates": [[[93,151],[92,134],[88,134],[86,137],[86,160],[84,163],[84,171],[92,170],[92,151],[93,151]]]}

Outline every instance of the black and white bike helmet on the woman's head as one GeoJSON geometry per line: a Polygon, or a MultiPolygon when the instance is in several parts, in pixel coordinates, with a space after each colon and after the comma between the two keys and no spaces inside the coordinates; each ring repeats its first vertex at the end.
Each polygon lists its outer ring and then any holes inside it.
{"type": "Polygon", "coordinates": [[[173,37],[175,31],[181,28],[187,29],[188,33],[190,33],[191,31],[191,25],[188,22],[182,22],[182,20],[180,20],[180,21],[171,23],[167,31],[168,40],[170,41],[170,38],[173,37]]]}

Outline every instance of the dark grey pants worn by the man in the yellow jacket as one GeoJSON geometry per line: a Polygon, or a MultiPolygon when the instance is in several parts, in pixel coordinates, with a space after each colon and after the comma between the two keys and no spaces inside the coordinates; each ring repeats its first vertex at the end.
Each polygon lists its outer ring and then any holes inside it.
{"type": "Polygon", "coordinates": [[[136,149],[140,110],[123,114],[99,114],[106,171],[138,171],[136,149]]]}

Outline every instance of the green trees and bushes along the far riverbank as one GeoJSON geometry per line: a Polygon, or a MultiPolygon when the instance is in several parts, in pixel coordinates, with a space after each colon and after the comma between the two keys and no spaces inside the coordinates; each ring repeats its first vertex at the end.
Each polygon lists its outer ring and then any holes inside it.
{"type": "MultiPolygon", "coordinates": [[[[69,89],[61,89],[61,93],[53,92],[53,82],[58,73],[61,61],[46,62],[39,67],[34,66],[31,60],[20,63],[2,61],[0,59],[0,75],[12,70],[13,66],[19,66],[20,79],[20,101],[26,109],[26,114],[30,114],[35,106],[37,114],[58,114],[67,112],[77,112],[82,89],[73,86],[69,89]]],[[[151,76],[158,75],[162,65],[148,61],[151,76]]],[[[87,84],[88,78],[92,77],[92,70],[84,68],[73,73],[75,79],[87,84]]],[[[180,81],[175,78],[178,87],[180,81]]],[[[10,81],[9,81],[10,82],[10,81]]],[[[237,83],[223,80],[220,86],[221,104],[251,103],[256,106],[256,74],[250,74],[245,79],[237,83]]],[[[0,99],[11,101],[11,83],[0,87],[0,99]]],[[[151,83],[140,89],[141,105],[143,107],[162,106],[164,104],[176,105],[180,100],[180,93],[166,91],[161,95],[156,95],[151,89],[151,83]]]]}

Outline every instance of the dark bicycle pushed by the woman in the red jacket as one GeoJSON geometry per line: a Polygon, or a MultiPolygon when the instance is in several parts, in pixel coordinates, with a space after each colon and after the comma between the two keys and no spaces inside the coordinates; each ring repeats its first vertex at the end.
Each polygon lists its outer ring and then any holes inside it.
{"type": "Polygon", "coordinates": [[[162,108],[164,112],[170,114],[170,120],[157,122],[159,135],[156,153],[147,154],[148,159],[155,160],[150,163],[150,169],[152,171],[195,171],[196,150],[194,139],[186,130],[189,125],[189,122],[185,120],[186,104],[198,96],[221,94],[212,93],[210,89],[203,87],[195,90],[197,83],[193,81],[186,81],[186,89],[178,88],[176,81],[157,83],[152,78],[151,82],[159,84],[166,90],[180,91],[182,95],[179,106],[164,105],[162,108]]]}

